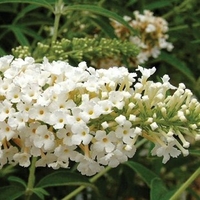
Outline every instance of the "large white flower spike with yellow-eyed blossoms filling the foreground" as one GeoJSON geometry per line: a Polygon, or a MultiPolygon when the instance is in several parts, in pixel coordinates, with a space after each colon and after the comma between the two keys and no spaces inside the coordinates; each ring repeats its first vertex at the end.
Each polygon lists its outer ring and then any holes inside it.
{"type": "Polygon", "coordinates": [[[162,83],[147,80],[155,68],[137,71],[142,75],[1,57],[0,167],[28,167],[37,157],[36,166],[68,168],[74,161],[82,174],[94,175],[133,157],[140,138],[155,143],[152,154],[164,163],[187,155],[184,136],[200,139],[200,103],[167,75],[162,83]]]}

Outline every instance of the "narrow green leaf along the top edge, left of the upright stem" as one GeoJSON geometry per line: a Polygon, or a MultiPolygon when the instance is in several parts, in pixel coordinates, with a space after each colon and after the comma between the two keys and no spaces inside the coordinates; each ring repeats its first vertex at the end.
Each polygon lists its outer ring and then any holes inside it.
{"type": "Polygon", "coordinates": [[[30,3],[46,7],[53,11],[53,7],[51,6],[50,2],[45,0],[0,0],[0,4],[1,3],[30,3]]]}

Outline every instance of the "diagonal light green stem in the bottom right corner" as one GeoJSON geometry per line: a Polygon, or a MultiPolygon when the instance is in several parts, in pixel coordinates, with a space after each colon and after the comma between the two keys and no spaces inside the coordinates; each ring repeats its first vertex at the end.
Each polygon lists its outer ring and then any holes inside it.
{"type": "Polygon", "coordinates": [[[175,192],[170,200],[177,200],[183,191],[200,175],[200,167],[190,176],[190,178],[175,192]]]}

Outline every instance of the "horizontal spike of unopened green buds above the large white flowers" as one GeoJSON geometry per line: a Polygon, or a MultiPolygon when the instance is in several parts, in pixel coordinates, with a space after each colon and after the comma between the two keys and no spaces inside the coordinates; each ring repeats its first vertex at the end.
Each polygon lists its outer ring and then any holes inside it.
{"type": "Polygon", "coordinates": [[[50,61],[65,60],[78,63],[82,60],[95,60],[105,57],[120,56],[122,58],[136,57],[139,53],[137,46],[128,41],[101,38],[73,38],[52,42],[51,45],[38,42],[32,50],[27,46],[19,46],[12,50],[15,57],[32,56],[37,61],[47,57],[50,61]]]}

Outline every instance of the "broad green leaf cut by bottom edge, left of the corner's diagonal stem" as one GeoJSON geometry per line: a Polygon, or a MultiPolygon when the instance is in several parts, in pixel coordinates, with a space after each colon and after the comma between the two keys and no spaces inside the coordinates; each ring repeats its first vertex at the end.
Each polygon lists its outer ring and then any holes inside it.
{"type": "Polygon", "coordinates": [[[161,197],[165,195],[166,192],[167,188],[165,187],[160,178],[154,178],[151,181],[151,193],[150,193],[151,200],[161,199],[161,197]]]}

